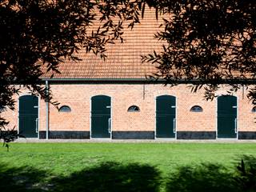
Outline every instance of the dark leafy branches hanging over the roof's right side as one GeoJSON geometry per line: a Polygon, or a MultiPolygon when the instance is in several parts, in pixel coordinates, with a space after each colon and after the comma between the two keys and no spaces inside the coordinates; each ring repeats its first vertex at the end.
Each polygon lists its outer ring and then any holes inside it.
{"type": "Polygon", "coordinates": [[[144,55],[166,84],[192,83],[192,91],[205,89],[206,99],[221,86],[233,94],[246,86],[256,104],[256,1],[255,0],[154,0],[164,14],[162,52],[144,55]],[[250,85],[250,86],[249,86],[250,85]]]}

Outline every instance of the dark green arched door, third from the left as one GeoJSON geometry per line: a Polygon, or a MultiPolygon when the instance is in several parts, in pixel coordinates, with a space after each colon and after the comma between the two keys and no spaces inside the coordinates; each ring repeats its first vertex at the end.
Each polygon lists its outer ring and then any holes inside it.
{"type": "Polygon", "coordinates": [[[156,98],[156,138],[175,138],[176,98],[162,95],[156,98]]]}

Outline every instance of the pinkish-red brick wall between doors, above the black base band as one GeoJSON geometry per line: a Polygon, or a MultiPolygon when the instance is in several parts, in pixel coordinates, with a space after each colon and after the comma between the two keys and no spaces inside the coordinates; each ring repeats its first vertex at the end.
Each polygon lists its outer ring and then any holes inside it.
{"type": "MultiPolygon", "coordinates": [[[[178,131],[215,131],[217,100],[206,102],[203,91],[190,93],[185,85],[162,86],[136,84],[80,84],[51,85],[54,99],[62,105],[70,106],[70,113],[60,113],[50,105],[50,130],[90,130],[90,98],[105,94],[112,98],[112,130],[114,131],[154,131],[155,129],[155,98],[158,95],[170,94],[177,99],[177,130],[178,131]],[[143,90],[144,93],[143,93],[143,90]],[[129,106],[138,106],[140,112],[129,113],[129,106]],[[192,106],[202,106],[202,113],[190,112],[192,106]]],[[[26,94],[24,90],[22,94],[26,94]]],[[[226,94],[225,88],[217,94],[226,94]]],[[[238,130],[256,131],[256,114],[251,112],[252,105],[246,93],[238,90],[238,130]]],[[[15,99],[18,100],[16,96],[15,99]]],[[[18,103],[15,111],[3,114],[10,120],[10,127],[18,124],[18,103]]],[[[40,127],[46,130],[46,104],[40,101],[40,127]]]]}

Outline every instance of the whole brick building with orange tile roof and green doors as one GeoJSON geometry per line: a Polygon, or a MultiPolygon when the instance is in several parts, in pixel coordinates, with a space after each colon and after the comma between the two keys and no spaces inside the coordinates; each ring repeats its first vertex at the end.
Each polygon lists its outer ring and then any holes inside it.
{"type": "Polygon", "coordinates": [[[106,61],[81,51],[81,62],[62,63],[54,78],[44,75],[60,109],[23,90],[16,110],[3,112],[9,126],[26,138],[256,138],[256,108],[245,90],[223,96],[224,87],[206,102],[202,90],[194,94],[187,85],[146,78],[156,69],[141,55],[161,49],[154,38],[160,22],[147,11],[141,24],[126,30],[124,43],[108,47],[106,61]]]}

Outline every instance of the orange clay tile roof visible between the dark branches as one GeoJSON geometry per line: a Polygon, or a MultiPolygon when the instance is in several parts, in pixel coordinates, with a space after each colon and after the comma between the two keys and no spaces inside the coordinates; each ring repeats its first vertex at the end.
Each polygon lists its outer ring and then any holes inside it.
{"type": "MultiPolygon", "coordinates": [[[[162,42],[154,38],[161,22],[160,18],[156,20],[154,10],[146,10],[140,24],[135,25],[133,30],[125,30],[123,43],[107,46],[105,61],[80,50],[78,57],[82,61],[61,63],[58,68],[61,74],[54,74],[54,78],[141,79],[154,74],[156,68],[150,63],[142,63],[141,55],[161,49],[162,42]]],[[[50,74],[42,78],[50,78],[50,74]]]]}

